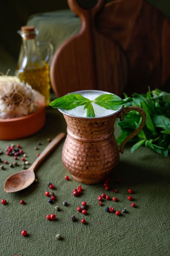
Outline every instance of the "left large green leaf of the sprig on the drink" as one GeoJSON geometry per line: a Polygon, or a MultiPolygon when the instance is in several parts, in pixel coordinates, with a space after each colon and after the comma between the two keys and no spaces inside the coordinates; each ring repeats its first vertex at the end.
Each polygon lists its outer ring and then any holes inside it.
{"type": "Polygon", "coordinates": [[[56,98],[50,103],[50,106],[53,108],[61,108],[64,110],[72,110],[78,106],[83,106],[86,102],[90,100],[83,97],[80,94],[68,94],[60,98],[56,98]]]}

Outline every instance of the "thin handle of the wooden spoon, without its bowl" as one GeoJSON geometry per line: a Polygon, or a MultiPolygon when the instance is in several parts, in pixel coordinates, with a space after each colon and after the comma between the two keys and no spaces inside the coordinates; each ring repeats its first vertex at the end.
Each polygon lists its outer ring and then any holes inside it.
{"type": "Polygon", "coordinates": [[[65,133],[59,133],[46,148],[42,151],[42,153],[39,155],[39,157],[35,160],[35,162],[32,164],[30,169],[33,171],[36,169],[36,167],[42,162],[42,160],[52,151],[53,148],[65,137],[65,133]]]}

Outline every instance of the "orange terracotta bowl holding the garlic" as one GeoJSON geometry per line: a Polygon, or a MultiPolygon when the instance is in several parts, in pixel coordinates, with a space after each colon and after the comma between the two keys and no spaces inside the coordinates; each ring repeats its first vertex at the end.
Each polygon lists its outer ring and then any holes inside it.
{"type": "Polygon", "coordinates": [[[24,117],[0,119],[0,140],[21,139],[38,132],[45,124],[45,105],[24,117]]]}

